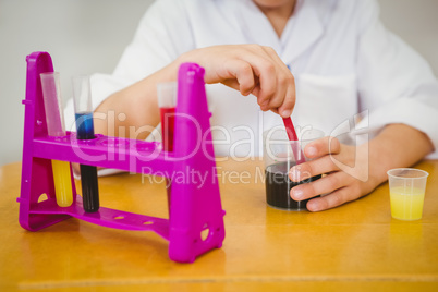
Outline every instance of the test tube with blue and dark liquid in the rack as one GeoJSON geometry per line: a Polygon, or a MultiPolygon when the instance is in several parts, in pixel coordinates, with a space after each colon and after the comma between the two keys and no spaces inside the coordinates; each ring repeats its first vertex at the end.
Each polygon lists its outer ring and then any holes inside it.
{"type": "MultiPolygon", "coordinates": [[[[95,138],[92,92],[88,76],[73,77],[73,99],[77,139],[95,138]]],[[[84,210],[86,212],[95,212],[99,209],[97,168],[87,165],[81,165],[80,168],[84,210]]]]}

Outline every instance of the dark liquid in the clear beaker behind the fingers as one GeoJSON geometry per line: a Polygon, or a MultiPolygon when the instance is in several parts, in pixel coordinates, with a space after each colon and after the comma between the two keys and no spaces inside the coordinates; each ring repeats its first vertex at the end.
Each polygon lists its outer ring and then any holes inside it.
{"type": "Polygon", "coordinates": [[[290,196],[291,188],[302,183],[309,183],[320,179],[315,175],[301,182],[289,179],[289,170],[294,166],[292,162],[270,165],[265,169],[266,202],[269,206],[288,210],[306,210],[309,199],[294,200],[290,196]]]}

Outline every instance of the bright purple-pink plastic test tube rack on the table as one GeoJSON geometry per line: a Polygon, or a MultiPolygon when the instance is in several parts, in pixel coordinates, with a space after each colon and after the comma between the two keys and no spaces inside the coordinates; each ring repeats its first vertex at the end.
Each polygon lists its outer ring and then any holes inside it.
{"type": "Polygon", "coordinates": [[[74,217],[109,228],[154,231],[169,241],[169,257],[180,263],[193,263],[198,255],[222,246],[224,210],[216,175],[209,123],[211,113],[207,106],[203,68],[184,63],[179,70],[174,148],[167,153],[160,143],[154,142],[104,135],[78,141],[70,132],[64,137],[48,136],[39,74],[53,72],[53,64],[47,52],[33,52],[26,61],[22,183],[17,198],[20,224],[24,229],[38,231],[74,217]],[[172,173],[191,169],[212,179],[203,185],[186,180],[172,182],[169,219],[105,207],[97,212],[85,212],[73,177],[72,206],[57,205],[51,159],[137,173],[146,170],[148,173],[145,174],[161,173],[169,178],[172,173]],[[48,198],[38,202],[42,194],[48,198]],[[203,239],[202,232],[206,230],[208,235],[203,239]]]}

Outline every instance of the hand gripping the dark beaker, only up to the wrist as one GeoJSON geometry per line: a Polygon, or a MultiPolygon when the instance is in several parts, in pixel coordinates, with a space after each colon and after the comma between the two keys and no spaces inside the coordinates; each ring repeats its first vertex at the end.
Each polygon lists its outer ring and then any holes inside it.
{"type": "Polygon", "coordinates": [[[308,144],[305,155],[314,160],[293,167],[289,177],[299,182],[311,177],[327,173],[312,183],[301,184],[291,190],[291,197],[303,200],[311,199],[307,209],[321,211],[360,198],[372,192],[380,181],[368,178],[367,144],[358,147],[339,143],[337,138],[324,137],[308,144]]]}

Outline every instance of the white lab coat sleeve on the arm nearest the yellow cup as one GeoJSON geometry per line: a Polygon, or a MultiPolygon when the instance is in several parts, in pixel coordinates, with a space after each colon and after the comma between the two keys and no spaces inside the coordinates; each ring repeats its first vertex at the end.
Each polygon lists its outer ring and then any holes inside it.
{"type": "MultiPolygon", "coordinates": [[[[430,66],[379,21],[375,0],[363,1],[358,35],[360,110],[368,111],[357,127],[372,135],[385,125],[403,123],[430,138],[438,158],[438,82],[430,66]]],[[[409,137],[406,137],[409,141],[409,137]]]]}

